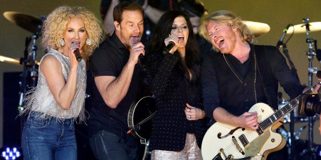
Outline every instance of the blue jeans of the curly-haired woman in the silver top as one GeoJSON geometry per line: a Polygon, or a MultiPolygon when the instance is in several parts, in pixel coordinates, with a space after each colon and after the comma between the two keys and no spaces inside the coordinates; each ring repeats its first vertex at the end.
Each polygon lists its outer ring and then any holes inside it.
{"type": "Polygon", "coordinates": [[[77,159],[74,119],[38,119],[31,113],[22,133],[24,159],[77,159]]]}

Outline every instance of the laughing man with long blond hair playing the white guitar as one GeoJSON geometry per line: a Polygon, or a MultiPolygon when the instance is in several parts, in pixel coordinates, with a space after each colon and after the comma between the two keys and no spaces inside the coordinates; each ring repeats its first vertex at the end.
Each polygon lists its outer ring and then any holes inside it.
{"type": "MultiPolygon", "coordinates": [[[[291,98],[306,87],[277,47],[253,44],[253,34],[234,13],[214,12],[199,30],[218,51],[203,61],[201,71],[204,111],[215,121],[255,131],[258,113],[248,112],[251,106],[263,102],[278,110],[279,83],[291,98]]],[[[283,152],[273,152],[268,159],[284,159],[283,152]]]]}

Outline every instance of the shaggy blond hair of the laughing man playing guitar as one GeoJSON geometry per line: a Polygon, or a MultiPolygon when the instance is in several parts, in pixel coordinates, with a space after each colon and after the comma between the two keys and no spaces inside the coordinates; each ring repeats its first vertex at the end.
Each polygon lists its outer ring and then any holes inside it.
{"type": "MultiPolygon", "coordinates": [[[[199,26],[199,34],[211,42],[207,25],[209,22],[218,23],[218,24],[227,24],[229,26],[236,26],[238,28],[238,32],[243,41],[247,41],[249,43],[254,42],[254,35],[249,31],[246,24],[243,23],[240,17],[237,17],[231,11],[217,11],[209,15],[203,20],[203,23],[199,26]]],[[[216,49],[216,48],[215,48],[216,49]]],[[[217,50],[217,49],[216,49],[217,50]]]]}

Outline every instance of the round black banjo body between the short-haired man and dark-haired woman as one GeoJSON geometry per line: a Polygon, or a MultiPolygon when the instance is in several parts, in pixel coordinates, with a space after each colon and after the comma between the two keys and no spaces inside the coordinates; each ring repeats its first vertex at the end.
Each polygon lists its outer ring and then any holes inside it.
{"type": "Polygon", "coordinates": [[[131,134],[146,144],[152,132],[152,118],[156,113],[155,98],[146,96],[134,102],[128,112],[128,127],[131,134]]]}

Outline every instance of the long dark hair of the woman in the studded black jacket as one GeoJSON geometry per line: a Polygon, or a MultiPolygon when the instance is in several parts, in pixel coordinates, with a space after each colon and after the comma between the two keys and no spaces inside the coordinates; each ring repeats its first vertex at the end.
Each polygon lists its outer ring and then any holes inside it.
{"type": "MultiPolygon", "coordinates": [[[[184,17],[184,19],[187,21],[189,37],[185,46],[185,59],[182,60],[180,57],[181,61],[179,61],[178,67],[184,72],[185,76],[190,79],[190,74],[187,70],[188,68],[192,73],[191,81],[194,82],[199,77],[200,73],[200,52],[197,47],[197,41],[194,37],[192,23],[190,18],[184,12],[168,11],[164,13],[161,18],[159,18],[157,24],[154,26],[153,36],[148,47],[148,52],[150,54],[154,54],[155,52],[157,52],[157,54],[163,54],[162,51],[165,47],[165,38],[167,38],[171,33],[174,19],[180,16],[184,17]]],[[[174,54],[180,56],[178,50],[176,50],[174,54]]]]}

